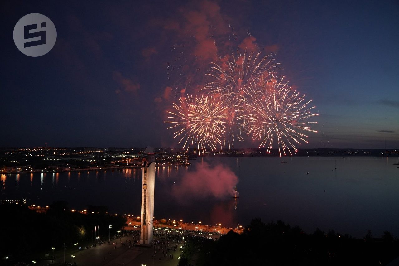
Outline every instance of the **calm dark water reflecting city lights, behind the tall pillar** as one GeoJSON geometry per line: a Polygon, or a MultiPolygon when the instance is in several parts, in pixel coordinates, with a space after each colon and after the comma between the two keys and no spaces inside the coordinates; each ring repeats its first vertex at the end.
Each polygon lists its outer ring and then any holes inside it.
{"type": "MultiPolygon", "coordinates": [[[[227,226],[251,218],[283,220],[306,232],[316,227],[362,237],[371,230],[399,236],[399,158],[205,157],[193,165],[223,164],[239,177],[239,199],[177,200],[172,189],[195,167],[156,168],[156,218],[227,226]],[[286,163],[281,163],[286,161],[286,163]],[[337,169],[335,169],[337,167],[337,169]]],[[[66,200],[71,208],[106,205],[111,212],[140,215],[141,170],[1,175],[1,199],[28,204],[66,200]]]]}

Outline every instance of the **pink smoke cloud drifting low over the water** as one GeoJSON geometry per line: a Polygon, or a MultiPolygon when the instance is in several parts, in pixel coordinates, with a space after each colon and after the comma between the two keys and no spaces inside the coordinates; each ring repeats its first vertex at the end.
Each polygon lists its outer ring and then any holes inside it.
{"type": "Polygon", "coordinates": [[[209,166],[198,163],[195,171],[187,172],[180,183],[172,189],[174,197],[180,200],[203,199],[213,197],[222,199],[234,195],[238,178],[225,165],[209,166]]]}

